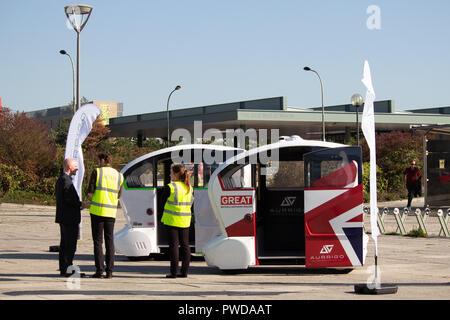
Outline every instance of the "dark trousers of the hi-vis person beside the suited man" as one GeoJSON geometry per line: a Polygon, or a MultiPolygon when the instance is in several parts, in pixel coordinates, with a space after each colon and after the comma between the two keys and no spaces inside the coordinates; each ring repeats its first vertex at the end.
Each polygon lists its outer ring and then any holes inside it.
{"type": "Polygon", "coordinates": [[[94,258],[97,273],[103,273],[103,271],[107,273],[113,272],[115,221],[115,218],[100,217],[91,214],[92,240],[94,241],[94,258]],[[103,255],[103,236],[105,238],[105,255],[103,255]]]}

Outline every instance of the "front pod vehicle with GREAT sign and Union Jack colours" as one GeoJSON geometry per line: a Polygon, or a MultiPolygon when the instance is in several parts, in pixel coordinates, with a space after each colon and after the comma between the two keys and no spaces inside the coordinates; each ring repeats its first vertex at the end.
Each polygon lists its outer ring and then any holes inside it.
{"type": "Polygon", "coordinates": [[[228,159],[208,193],[221,231],[203,248],[209,266],[363,264],[360,147],[290,137],[228,159]]]}

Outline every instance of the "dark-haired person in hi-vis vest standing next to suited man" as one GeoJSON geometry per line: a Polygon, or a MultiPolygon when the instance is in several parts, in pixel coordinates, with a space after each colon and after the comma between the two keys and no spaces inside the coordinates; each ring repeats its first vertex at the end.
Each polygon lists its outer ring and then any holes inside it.
{"type": "Polygon", "coordinates": [[[100,168],[92,172],[88,189],[89,196],[93,193],[89,212],[91,214],[96,272],[92,277],[103,278],[103,271],[106,271],[105,278],[112,278],[114,269],[114,223],[123,176],[111,167],[109,154],[100,153],[98,159],[100,168]],[[103,256],[103,234],[105,237],[105,256],[103,256]]]}

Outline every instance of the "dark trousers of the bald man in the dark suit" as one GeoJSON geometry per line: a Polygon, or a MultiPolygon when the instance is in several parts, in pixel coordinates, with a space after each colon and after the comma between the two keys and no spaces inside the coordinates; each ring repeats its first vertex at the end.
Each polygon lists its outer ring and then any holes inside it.
{"type": "Polygon", "coordinates": [[[59,224],[61,241],[59,243],[59,272],[64,274],[73,264],[73,257],[77,250],[78,224],[59,224]]]}

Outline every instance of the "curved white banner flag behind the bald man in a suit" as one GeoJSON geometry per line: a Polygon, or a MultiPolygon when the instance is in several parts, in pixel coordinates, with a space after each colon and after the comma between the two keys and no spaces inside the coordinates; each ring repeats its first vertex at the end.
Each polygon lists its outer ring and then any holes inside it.
{"type": "Polygon", "coordinates": [[[73,116],[67,134],[66,153],[64,158],[73,158],[78,161],[78,171],[72,178],[73,185],[82,200],[81,186],[84,176],[83,150],[81,144],[92,130],[92,124],[102,110],[95,104],[85,104],[73,116]]]}

